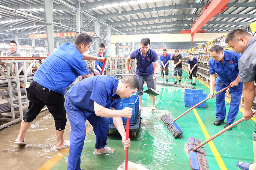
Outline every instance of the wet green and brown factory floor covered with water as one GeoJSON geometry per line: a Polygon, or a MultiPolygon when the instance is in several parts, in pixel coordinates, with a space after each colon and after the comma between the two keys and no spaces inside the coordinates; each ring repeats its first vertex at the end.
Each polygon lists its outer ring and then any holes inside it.
{"type": "MultiPolygon", "coordinates": [[[[169,81],[171,80],[170,75],[172,75],[172,71],[169,72],[169,81]]],[[[185,84],[187,78],[188,73],[183,70],[182,85],[185,84]]],[[[160,79],[159,76],[157,82],[160,82],[160,79]]],[[[196,84],[196,89],[206,90],[209,94],[210,89],[203,82],[196,80],[196,84]]],[[[144,89],[146,89],[146,85],[144,85],[144,89]]],[[[156,96],[155,102],[159,113],[151,111],[149,96],[144,94],[142,97],[141,125],[136,137],[130,135],[131,147],[129,148],[128,160],[151,170],[181,168],[189,170],[188,147],[186,145],[188,137],[194,137],[203,142],[224,128],[225,124],[213,125],[216,120],[215,98],[206,101],[206,108],[193,109],[176,121],[183,130],[183,139],[175,139],[160,120],[160,117],[167,114],[174,119],[189,109],[184,105],[184,89],[156,85],[156,90],[160,92],[159,96],[156,96]]],[[[228,114],[228,100],[226,101],[226,109],[228,114]]],[[[240,111],[242,110],[240,109],[240,111]]],[[[240,111],[235,121],[242,117],[240,111]]],[[[0,131],[1,141],[3,141],[1,144],[3,154],[0,154],[0,159],[6,162],[6,166],[1,164],[0,169],[67,169],[68,148],[59,152],[52,149],[56,133],[53,120],[50,118],[49,113],[44,113],[37,118],[37,122],[32,124],[26,134],[28,145],[25,148],[18,148],[13,144],[18,135],[20,123],[9,127],[14,129],[12,132],[7,131],[9,128],[0,131]],[[22,163],[20,167],[19,162],[22,163]],[[34,162],[36,162],[35,165],[34,162]]],[[[236,161],[253,162],[252,131],[254,124],[253,120],[241,122],[233,130],[226,131],[205,144],[204,149],[208,153],[206,158],[209,160],[209,169],[233,170],[238,169],[236,161]]],[[[70,126],[68,124],[64,139],[68,139],[69,132],[70,126]]],[[[116,130],[110,130],[108,134],[107,146],[115,149],[114,153],[93,155],[95,140],[93,131],[90,131],[84,142],[81,169],[117,169],[125,159],[125,151],[119,133],[116,130]]]]}

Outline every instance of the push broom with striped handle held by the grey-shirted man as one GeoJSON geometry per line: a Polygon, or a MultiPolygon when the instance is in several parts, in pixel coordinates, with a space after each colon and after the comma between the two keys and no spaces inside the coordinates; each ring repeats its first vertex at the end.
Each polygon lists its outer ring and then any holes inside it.
{"type": "MultiPolygon", "coordinates": [[[[253,113],[253,115],[255,112],[253,113]]],[[[244,121],[244,118],[239,119],[238,121],[232,123],[229,125],[227,128],[222,129],[220,132],[216,133],[209,139],[205,140],[204,142],[201,142],[200,140],[189,137],[188,138],[188,154],[189,154],[189,162],[190,162],[190,167],[192,170],[200,170],[200,169],[208,169],[208,159],[205,158],[205,155],[207,154],[202,147],[207,144],[208,142],[212,141],[216,137],[220,136],[222,133],[226,132],[227,130],[233,128],[236,126],[238,123],[241,123],[244,121]]]]}

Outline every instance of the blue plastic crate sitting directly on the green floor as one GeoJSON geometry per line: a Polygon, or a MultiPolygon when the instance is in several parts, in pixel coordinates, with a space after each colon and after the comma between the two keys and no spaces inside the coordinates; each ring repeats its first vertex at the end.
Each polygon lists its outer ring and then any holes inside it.
{"type": "MultiPolygon", "coordinates": [[[[185,89],[184,102],[186,107],[193,107],[200,101],[206,99],[207,93],[206,90],[194,90],[194,89],[185,89]]],[[[206,101],[197,107],[205,108],[206,101]]]]}

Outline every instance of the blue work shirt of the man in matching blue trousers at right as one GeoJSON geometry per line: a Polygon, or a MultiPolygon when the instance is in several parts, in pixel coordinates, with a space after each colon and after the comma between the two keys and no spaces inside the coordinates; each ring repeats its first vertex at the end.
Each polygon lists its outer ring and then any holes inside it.
{"type": "Polygon", "coordinates": [[[238,60],[240,59],[241,54],[227,50],[224,51],[224,62],[223,64],[220,61],[215,61],[211,57],[209,60],[209,74],[218,74],[220,82],[225,85],[229,85],[234,81],[238,74],[238,60]]]}

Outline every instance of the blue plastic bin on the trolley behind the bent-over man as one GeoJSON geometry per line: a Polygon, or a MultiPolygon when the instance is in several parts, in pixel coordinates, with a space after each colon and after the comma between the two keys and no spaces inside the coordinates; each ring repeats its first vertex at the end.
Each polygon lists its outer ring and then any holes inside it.
{"type": "MultiPolygon", "coordinates": [[[[130,125],[135,125],[137,116],[139,114],[139,95],[132,95],[126,99],[121,99],[121,110],[124,107],[132,108],[132,117],[130,118],[130,125]]],[[[126,125],[126,117],[122,117],[124,125],[126,125]]],[[[113,124],[112,117],[109,118],[110,123],[113,124]]]]}

